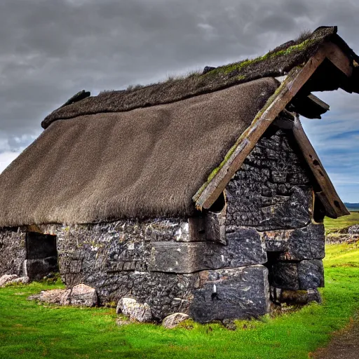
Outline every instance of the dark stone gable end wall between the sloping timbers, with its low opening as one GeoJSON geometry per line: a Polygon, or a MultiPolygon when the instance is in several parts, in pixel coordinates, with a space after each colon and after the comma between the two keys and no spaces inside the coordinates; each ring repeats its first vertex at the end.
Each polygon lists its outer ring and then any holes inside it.
{"type": "Polygon", "coordinates": [[[226,187],[226,232],[255,228],[271,285],[304,290],[324,285],[325,236],[323,224],[313,223],[311,179],[294,144],[275,128],[259,140],[226,187]]]}

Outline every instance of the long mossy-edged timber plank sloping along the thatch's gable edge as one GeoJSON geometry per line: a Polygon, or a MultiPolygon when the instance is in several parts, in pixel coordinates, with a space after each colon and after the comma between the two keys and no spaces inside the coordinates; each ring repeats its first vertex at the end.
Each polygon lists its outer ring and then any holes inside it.
{"type": "Polygon", "coordinates": [[[313,72],[316,71],[318,66],[325,59],[326,50],[320,48],[316,55],[306,62],[304,67],[295,67],[283,83],[280,84],[269,100],[264,105],[264,108],[259,111],[252,124],[245,130],[241,137],[237,140],[232,148],[231,155],[222,167],[218,170],[215,176],[197,192],[194,196],[196,201],[196,208],[202,210],[208,209],[218,198],[219,194],[224,191],[226,184],[230,181],[231,177],[241,167],[245,158],[250,154],[259,138],[262,137],[265,130],[274,121],[276,116],[285,109],[285,106],[292,100],[294,95],[297,94],[300,88],[309,80],[313,72]],[[203,189],[203,191],[201,191],[203,189]]]}

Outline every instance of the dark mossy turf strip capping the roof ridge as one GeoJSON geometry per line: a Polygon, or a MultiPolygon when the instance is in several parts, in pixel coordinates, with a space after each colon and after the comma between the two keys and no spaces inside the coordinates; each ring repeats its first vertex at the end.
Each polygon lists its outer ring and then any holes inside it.
{"type": "Polygon", "coordinates": [[[297,41],[288,41],[254,60],[244,60],[217,67],[204,74],[191,74],[185,79],[172,79],[133,90],[109,91],[95,97],[87,97],[53,111],[41,125],[47,128],[57,119],[99,112],[129,111],[140,107],[166,104],[203,93],[211,93],[238,83],[269,76],[282,76],[294,66],[308,61],[320,45],[328,40],[340,42],[341,48],[353,53],[336,33],[337,27],[320,27],[313,34],[301,36],[297,41]]]}

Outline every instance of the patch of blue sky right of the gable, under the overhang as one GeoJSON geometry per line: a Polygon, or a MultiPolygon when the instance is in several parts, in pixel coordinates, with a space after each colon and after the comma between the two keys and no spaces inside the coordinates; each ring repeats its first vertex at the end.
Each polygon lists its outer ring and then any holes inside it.
{"type": "Polygon", "coordinates": [[[306,134],[345,202],[359,202],[359,96],[316,93],[330,104],[321,120],[302,118],[306,134]]]}

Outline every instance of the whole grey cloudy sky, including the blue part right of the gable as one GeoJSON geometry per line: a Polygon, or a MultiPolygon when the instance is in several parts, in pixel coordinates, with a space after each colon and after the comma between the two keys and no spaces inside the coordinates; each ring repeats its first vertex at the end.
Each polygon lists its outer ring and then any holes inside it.
{"type": "MultiPolygon", "coordinates": [[[[358,15],[357,0],[0,0],[0,172],[79,90],[255,57],[320,25],[359,53],[358,15]]],[[[359,95],[318,96],[331,110],[304,128],[341,198],[359,202],[359,95]]]]}

